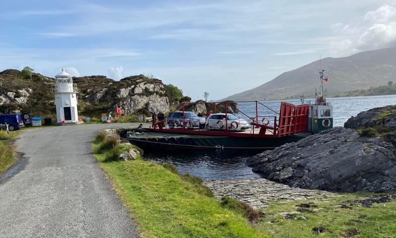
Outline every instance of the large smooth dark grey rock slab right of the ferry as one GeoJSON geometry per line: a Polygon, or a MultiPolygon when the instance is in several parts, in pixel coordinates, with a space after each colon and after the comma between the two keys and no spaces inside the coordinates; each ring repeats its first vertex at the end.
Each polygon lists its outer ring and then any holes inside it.
{"type": "Polygon", "coordinates": [[[395,147],[335,127],[247,160],[254,172],[292,187],[352,192],[396,190],[395,147]]]}

